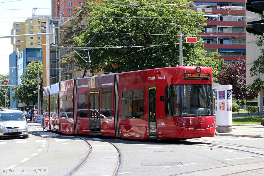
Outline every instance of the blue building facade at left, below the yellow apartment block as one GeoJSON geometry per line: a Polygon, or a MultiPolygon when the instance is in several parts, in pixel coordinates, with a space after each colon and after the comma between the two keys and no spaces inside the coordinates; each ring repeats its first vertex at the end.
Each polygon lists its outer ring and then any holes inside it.
{"type": "Polygon", "coordinates": [[[14,51],[9,55],[9,79],[10,79],[10,108],[21,108],[21,110],[27,110],[33,105],[24,105],[17,103],[17,100],[12,99],[13,91],[12,87],[21,84],[21,75],[26,74],[26,67],[32,61],[43,62],[42,49],[41,48],[24,48],[21,52],[14,51]]]}

